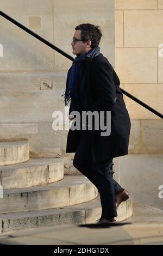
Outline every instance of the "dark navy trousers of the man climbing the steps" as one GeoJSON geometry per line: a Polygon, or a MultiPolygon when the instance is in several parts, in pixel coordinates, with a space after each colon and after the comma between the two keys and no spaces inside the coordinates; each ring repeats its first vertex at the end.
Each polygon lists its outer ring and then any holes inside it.
{"type": "Polygon", "coordinates": [[[112,178],[110,170],[112,158],[102,162],[92,160],[92,133],[82,131],[80,141],[73,159],[73,166],[84,174],[97,188],[101,198],[101,218],[114,218],[117,216],[115,195],[122,187],[112,178]]]}

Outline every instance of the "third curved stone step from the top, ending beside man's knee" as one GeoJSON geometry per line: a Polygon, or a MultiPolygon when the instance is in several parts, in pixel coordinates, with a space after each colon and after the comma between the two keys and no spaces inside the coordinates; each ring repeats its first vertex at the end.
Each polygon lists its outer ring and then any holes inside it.
{"type": "Polygon", "coordinates": [[[53,209],[80,204],[97,197],[97,188],[83,175],[64,176],[48,185],[3,191],[0,214],[53,209]]]}

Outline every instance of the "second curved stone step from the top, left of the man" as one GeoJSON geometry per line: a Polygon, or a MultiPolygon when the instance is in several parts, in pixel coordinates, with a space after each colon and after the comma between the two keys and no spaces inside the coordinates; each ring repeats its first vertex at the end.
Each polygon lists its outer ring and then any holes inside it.
{"type": "Polygon", "coordinates": [[[24,163],[0,167],[0,178],[3,189],[45,185],[64,178],[64,162],[30,158],[24,163]]]}

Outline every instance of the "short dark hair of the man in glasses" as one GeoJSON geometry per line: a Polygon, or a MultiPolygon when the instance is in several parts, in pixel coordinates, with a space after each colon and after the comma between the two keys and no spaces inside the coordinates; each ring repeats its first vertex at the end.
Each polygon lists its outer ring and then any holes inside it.
{"type": "Polygon", "coordinates": [[[95,26],[90,23],[84,23],[78,25],[75,29],[82,31],[81,39],[83,41],[90,40],[92,42],[91,48],[95,48],[99,45],[102,37],[102,31],[99,29],[99,26],[95,26]]]}

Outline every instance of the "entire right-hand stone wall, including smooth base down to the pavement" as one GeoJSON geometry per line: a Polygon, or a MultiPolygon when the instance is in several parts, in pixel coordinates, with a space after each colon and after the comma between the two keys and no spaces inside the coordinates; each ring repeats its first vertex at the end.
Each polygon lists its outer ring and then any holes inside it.
{"type": "MultiPolygon", "coordinates": [[[[115,69],[121,88],[163,113],[162,0],[115,1],[115,69]]],[[[134,201],[162,208],[163,122],[124,96],[131,118],[129,155],[120,157],[120,181],[134,201]]]]}

